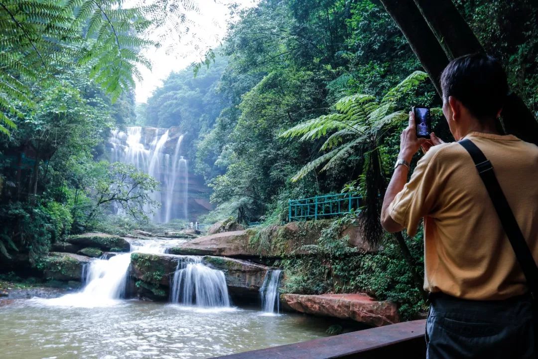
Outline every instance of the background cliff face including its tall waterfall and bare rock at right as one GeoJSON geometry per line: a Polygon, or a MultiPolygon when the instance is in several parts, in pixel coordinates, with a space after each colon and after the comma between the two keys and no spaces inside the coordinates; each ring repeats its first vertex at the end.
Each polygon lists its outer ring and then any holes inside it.
{"type": "Polygon", "coordinates": [[[153,194],[153,199],[161,203],[154,222],[194,222],[212,208],[210,189],[190,166],[188,146],[179,127],[134,126],[112,132],[108,143],[110,160],[133,164],[161,183],[160,191],[153,194]]]}

